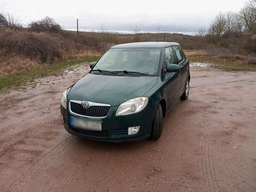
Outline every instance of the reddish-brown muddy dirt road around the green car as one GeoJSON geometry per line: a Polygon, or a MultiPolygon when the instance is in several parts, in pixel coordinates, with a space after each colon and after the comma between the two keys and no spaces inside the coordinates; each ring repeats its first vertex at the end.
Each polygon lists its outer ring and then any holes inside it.
{"type": "Polygon", "coordinates": [[[0,191],[256,191],[256,73],[191,69],[159,141],[68,134],[61,92],[88,68],[0,95],[0,191]]]}

